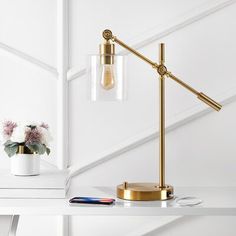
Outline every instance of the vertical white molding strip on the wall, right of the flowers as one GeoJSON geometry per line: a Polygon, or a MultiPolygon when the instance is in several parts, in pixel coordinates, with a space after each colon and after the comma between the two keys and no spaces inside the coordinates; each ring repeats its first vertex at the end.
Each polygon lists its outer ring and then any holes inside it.
{"type": "Polygon", "coordinates": [[[68,0],[57,0],[57,167],[68,166],[68,0]]]}

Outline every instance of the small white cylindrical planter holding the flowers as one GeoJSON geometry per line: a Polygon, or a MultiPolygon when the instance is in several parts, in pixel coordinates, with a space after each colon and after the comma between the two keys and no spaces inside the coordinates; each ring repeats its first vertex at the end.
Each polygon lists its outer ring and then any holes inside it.
{"type": "Polygon", "coordinates": [[[11,157],[11,173],[13,175],[39,175],[40,156],[38,154],[16,154],[11,157]]]}

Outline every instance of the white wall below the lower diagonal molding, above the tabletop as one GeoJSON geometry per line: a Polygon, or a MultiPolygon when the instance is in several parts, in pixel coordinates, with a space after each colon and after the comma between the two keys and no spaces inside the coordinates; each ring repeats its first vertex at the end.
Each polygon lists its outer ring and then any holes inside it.
{"type": "MultiPolygon", "coordinates": [[[[167,134],[166,181],[169,184],[235,186],[236,133],[231,130],[236,129],[236,124],[234,119],[228,119],[230,114],[236,116],[236,102],[225,106],[217,115],[208,114],[167,134]]],[[[124,180],[155,181],[158,151],[155,139],[75,177],[72,186],[109,186],[124,180]]]]}

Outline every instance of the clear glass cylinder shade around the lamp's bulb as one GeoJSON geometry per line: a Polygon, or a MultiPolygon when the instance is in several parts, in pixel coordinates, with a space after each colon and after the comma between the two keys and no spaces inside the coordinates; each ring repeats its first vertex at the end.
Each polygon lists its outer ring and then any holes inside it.
{"type": "Polygon", "coordinates": [[[113,64],[102,64],[100,55],[89,60],[89,90],[92,101],[123,101],[125,93],[125,57],[114,55],[113,64]]]}

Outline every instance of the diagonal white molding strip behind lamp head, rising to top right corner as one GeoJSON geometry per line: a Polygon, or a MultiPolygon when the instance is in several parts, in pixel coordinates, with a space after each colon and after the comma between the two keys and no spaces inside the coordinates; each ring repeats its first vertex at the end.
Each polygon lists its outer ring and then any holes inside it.
{"type": "MultiPolygon", "coordinates": [[[[188,12],[181,17],[174,18],[172,21],[167,22],[164,25],[158,25],[151,31],[143,32],[139,37],[131,40],[129,44],[134,49],[140,49],[147,46],[148,44],[159,40],[171,33],[174,33],[190,24],[193,24],[205,17],[224,9],[232,4],[236,3],[236,0],[216,0],[210,1],[207,4],[199,6],[194,10],[188,12]]],[[[118,51],[122,55],[130,54],[127,50],[118,51]]],[[[77,70],[76,68],[71,68],[67,73],[68,80],[73,80],[82,77],[86,74],[86,68],[77,70]]]]}

